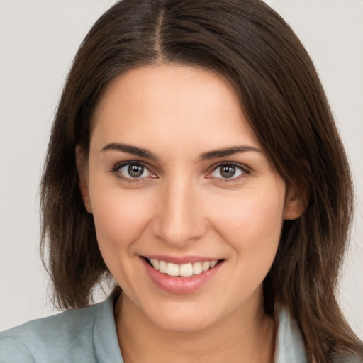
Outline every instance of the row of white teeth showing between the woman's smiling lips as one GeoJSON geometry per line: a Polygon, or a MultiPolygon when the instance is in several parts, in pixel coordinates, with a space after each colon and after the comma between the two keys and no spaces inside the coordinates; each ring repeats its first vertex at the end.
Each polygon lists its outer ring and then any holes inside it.
{"type": "Polygon", "coordinates": [[[214,259],[212,261],[194,262],[187,264],[174,264],[159,259],[146,258],[148,264],[162,274],[173,277],[191,277],[213,269],[222,260],[214,259]]]}

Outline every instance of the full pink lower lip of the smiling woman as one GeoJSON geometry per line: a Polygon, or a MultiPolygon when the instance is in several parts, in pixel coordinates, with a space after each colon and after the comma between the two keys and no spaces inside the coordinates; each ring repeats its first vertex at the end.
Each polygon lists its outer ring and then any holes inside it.
{"type": "Polygon", "coordinates": [[[174,277],[157,271],[154,267],[148,264],[143,257],[141,257],[141,261],[143,262],[151,281],[158,288],[171,294],[178,295],[191,294],[194,291],[201,289],[214,277],[214,275],[216,275],[223,264],[223,261],[218,262],[215,267],[191,277],[174,277]]]}

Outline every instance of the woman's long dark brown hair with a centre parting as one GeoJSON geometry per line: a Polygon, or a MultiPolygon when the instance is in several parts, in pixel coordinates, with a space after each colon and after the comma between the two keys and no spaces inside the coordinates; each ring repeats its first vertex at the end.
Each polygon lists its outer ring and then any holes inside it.
{"type": "Polygon", "coordinates": [[[308,190],[306,211],[285,221],[264,280],[264,308],[289,309],[309,362],[360,352],[335,298],[352,214],[352,181],[324,91],[306,50],[259,0],[124,0],[104,13],[74,59],[45,160],[43,252],[60,308],[86,306],[109,275],[79,191],[74,149],[89,146],[105,86],[133,67],[178,62],[226,77],[287,186],[308,190]]]}

